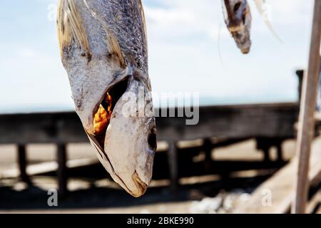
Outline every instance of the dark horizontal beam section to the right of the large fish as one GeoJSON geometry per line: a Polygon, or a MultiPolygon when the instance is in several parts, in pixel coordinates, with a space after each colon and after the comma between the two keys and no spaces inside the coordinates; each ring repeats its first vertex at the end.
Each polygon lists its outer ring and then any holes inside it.
{"type": "Polygon", "coordinates": [[[198,125],[186,125],[185,118],[157,118],[156,123],[163,140],[294,138],[297,110],[296,103],[202,107],[198,125]]]}

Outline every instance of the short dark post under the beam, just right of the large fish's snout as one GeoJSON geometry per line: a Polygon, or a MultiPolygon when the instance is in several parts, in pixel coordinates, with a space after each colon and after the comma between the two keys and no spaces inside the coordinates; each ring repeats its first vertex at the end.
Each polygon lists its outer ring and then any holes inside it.
{"type": "Polygon", "coordinates": [[[170,190],[178,189],[178,157],[176,142],[168,142],[168,165],[170,167],[170,190]]]}

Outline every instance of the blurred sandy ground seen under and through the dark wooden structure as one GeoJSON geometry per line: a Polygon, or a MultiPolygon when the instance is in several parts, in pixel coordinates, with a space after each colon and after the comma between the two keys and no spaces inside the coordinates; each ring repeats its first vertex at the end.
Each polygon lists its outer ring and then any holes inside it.
{"type": "MultiPolygon", "coordinates": [[[[166,145],[161,145],[166,147],[166,145]]],[[[295,151],[295,142],[289,140],[282,145],[286,160],[295,151]]],[[[29,145],[30,164],[52,162],[56,159],[54,145],[29,145]]],[[[276,160],[275,149],[271,157],[276,160]]],[[[68,159],[96,159],[91,146],[69,145],[68,159]]],[[[263,160],[263,153],[255,149],[255,141],[249,140],[213,151],[215,160],[263,160]]],[[[153,182],[144,197],[134,199],[106,178],[92,180],[87,177],[71,178],[67,197],[58,200],[58,207],[47,204],[47,190],[56,189],[54,176],[32,177],[30,187],[16,178],[4,178],[7,170],[16,170],[16,147],[0,147],[0,213],[228,213],[235,202],[246,202],[249,190],[245,186],[258,186],[270,174],[255,171],[239,172],[228,180],[228,189],[216,175],[190,177],[180,180],[178,192],[168,190],[168,181],[153,182]],[[2,175],[2,176],[1,176],[2,175]]],[[[16,173],[18,171],[16,170],[16,173]]]]}

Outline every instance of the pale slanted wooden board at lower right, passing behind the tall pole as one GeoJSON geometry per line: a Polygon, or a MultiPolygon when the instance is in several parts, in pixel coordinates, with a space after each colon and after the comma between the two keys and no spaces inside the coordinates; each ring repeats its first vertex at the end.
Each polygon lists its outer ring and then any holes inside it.
{"type": "MultiPolygon", "coordinates": [[[[309,181],[311,186],[317,185],[321,174],[321,138],[317,138],[312,144],[310,160],[309,181]]],[[[235,213],[240,214],[283,214],[290,212],[290,205],[294,197],[297,160],[294,159],[288,165],[270,177],[250,197],[248,202],[240,204],[235,213]],[[265,193],[271,193],[272,205],[263,204],[265,193]]]]}

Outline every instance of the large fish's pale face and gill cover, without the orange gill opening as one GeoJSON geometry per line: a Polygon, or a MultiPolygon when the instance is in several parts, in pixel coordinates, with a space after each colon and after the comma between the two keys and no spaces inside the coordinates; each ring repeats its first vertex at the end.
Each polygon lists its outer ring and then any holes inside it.
{"type": "Polygon", "coordinates": [[[157,147],[153,115],[151,93],[143,81],[131,76],[126,93],[113,108],[104,150],[114,172],[134,197],[143,195],[151,182],[157,147]]]}

